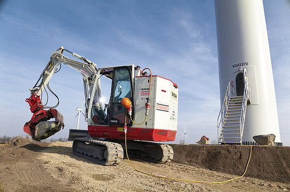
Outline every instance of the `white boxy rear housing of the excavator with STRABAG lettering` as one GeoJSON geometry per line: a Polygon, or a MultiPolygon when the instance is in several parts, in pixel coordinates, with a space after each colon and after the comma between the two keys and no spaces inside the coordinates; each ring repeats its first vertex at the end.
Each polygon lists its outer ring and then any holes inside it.
{"type": "MultiPolygon", "coordinates": [[[[147,102],[150,77],[136,77],[134,86],[133,121],[143,122],[144,107],[147,102]]],[[[153,76],[151,82],[150,110],[146,122],[132,127],[177,131],[178,88],[159,76],[153,76]]]]}

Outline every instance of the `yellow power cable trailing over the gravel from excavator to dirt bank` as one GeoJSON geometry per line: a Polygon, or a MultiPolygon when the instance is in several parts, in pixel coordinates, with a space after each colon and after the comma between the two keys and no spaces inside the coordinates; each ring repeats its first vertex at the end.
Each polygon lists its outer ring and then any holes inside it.
{"type": "Polygon", "coordinates": [[[179,180],[179,181],[188,181],[188,182],[199,182],[199,183],[225,183],[225,182],[229,182],[229,181],[232,181],[232,180],[235,180],[235,179],[238,179],[238,178],[241,178],[245,175],[247,169],[248,169],[248,165],[249,165],[249,162],[250,162],[250,159],[251,159],[251,155],[252,155],[252,146],[250,147],[250,156],[249,156],[249,160],[248,160],[248,163],[247,163],[247,166],[246,166],[246,169],[245,169],[245,172],[239,176],[239,177],[236,177],[236,178],[233,178],[233,179],[229,179],[229,180],[226,180],[226,181],[192,181],[192,180],[184,180],[184,179],[177,179],[177,178],[170,178],[170,177],[163,177],[163,176],[159,176],[159,175],[154,175],[154,174],[151,174],[151,173],[146,173],[146,172],[143,172],[143,171],[140,171],[138,169],[136,169],[129,157],[128,157],[128,152],[127,152],[127,133],[125,133],[125,148],[126,148],[126,155],[127,155],[127,158],[128,158],[128,161],[130,163],[130,165],[133,167],[133,169],[135,169],[136,171],[140,172],[140,173],[143,173],[143,174],[147,174],[147,175],[151,175],[151,176],[156,176],[156,177],[160,177],[160,178],[165,178],[165,179],[171,179],[171,180],[179,180]]]}

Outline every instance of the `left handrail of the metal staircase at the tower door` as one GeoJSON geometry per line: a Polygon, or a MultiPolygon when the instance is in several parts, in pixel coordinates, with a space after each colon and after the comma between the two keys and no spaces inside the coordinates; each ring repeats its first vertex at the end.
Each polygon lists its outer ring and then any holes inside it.
{"type": "MultiPolygon", "coordinates": [[[[222,133],[222,130],[220,129],[221,124],[224,125],[227,120],[227,111],[228,111],[228,105],[230,102],[230,98],[236,96],[236,90],[234,88],[234,85],[229,82],[225,98],[223,101],[223,105],[221,106],[221,110],[218,116],[218,123],[216,124],[216,127],[218,127],[218,142],[220,141],[220,135],[222,133]]],[[[220,143],[220,142],[219,142],[220,143]]]]}

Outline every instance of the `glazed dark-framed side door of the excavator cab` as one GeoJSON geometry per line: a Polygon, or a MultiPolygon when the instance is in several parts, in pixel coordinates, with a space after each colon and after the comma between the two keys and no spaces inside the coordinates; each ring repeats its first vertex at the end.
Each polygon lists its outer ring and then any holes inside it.
{"type": "Polygon", "coordinates": [[[121,104],[121,100],[127,97],[133,103],[133,86],[131,78],[131,69],[129,67],[118,67],[114,68],[114,74],[112,79],[112,91],[109,103],[109,125],[123,126],[132,125],[130,117],[125,115],[127,110],[121,104]]]}

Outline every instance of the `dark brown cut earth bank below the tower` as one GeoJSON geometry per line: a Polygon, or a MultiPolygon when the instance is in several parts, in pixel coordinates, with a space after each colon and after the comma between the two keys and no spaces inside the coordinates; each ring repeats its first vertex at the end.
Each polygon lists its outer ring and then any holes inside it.
{"type": "MultiPolygon", "coordinates": [[[[242,175],[249,146],[171,145],[174,162],[195,165],[213,171],[242,175]]],[[[290,147],[253,146],[245,176],[290,183],[290,147]]]]}

